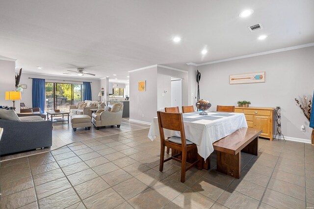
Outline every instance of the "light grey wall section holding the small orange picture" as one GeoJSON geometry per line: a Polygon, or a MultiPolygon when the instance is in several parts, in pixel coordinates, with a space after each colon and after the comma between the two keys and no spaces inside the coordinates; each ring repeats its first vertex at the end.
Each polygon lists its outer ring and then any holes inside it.
{"type": "Polygon", "coordinates": [[[157,67],[130,72],[130,119],[150,123],[156,116],[157,67]],[[146,92],[138,92],[138,81],[143,80],[146,80],[146,92]]]}

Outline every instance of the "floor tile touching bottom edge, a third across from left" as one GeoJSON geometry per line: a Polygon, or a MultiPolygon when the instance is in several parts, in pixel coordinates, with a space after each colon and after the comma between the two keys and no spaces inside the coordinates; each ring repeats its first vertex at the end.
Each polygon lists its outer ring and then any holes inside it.
{"type": "Polygon", "coordinates": [[[112,188],[108,188],[83,200],[83,202],[88,209],[101,209],[104,206],[106,209],[113,209],[125,200],[112,188]]]}

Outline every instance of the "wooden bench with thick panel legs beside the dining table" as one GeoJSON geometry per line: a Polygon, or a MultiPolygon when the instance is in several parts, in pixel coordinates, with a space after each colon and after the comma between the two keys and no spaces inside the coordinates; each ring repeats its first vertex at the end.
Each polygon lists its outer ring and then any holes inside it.
{"type": "Polygon", "coordinates": [[[262,130],[241,128],[229,136],[215,141],[212,145],[217,151],[217,171],[239,179],[241,151],[258,155],[261,133],[262,130]]]}

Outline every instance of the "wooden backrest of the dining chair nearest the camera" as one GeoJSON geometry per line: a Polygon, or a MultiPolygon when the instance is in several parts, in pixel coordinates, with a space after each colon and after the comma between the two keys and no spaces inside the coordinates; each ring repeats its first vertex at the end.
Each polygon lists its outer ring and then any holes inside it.
{"type": "Polygon", "coordinates": [[[164,142],[165,140],[163,129],[180,131],[182,145],[183,147],[186,147],[182,113],[165,113],[165,112],[158,111],[157,117],[158,117],[159,134],[160,134],[161,141],[164,142]]]}

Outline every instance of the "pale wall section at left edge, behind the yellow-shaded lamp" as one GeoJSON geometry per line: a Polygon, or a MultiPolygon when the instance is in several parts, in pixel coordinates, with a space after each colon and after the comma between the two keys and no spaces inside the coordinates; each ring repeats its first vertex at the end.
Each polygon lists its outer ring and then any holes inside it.
{"type": "MultiPolygon", "coordinates": [[[[12,101],[5,100],[5,92],[7,91],[15,91],[15,62],[0,60],[0,105],[12,107],[12,101]]],[[[20,109],[18,101],[15,102],[15,106],[17,110],[20,109]]]]}

